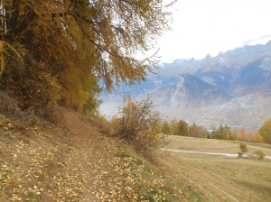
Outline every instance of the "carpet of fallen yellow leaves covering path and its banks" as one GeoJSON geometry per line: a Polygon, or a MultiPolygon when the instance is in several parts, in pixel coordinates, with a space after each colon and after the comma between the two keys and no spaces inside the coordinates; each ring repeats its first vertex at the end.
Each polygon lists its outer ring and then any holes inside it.
{"type": "Polygon", "coordinates": [[[17,194],[14,200],[22,201],[151,201],[155,197],[160,202],[166,198],[164,176],[142,156],[123,151],[114,139],[100,135],[89,124],[85,127],[73,116],[70,123],[76,123],[69,130],[77,129],[78,135],[61,134],[61,140],[51,142],[51,134],[38,133],[38,127],[30,143],[12,147],[8,161],[0,165],[5,199],[13,198],[13,193],[17,194]],[[43,143],[44,139],[50,141],[43,143]]]}

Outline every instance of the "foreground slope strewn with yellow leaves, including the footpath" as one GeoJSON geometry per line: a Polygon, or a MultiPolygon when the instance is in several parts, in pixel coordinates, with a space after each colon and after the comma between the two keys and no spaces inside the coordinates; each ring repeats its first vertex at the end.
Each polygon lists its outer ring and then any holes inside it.
{"type": "Polygon", "coordinates": [[[61,111],[61,126],[0,116],[1,201],[208,200],[85,117],[61,111]]]}

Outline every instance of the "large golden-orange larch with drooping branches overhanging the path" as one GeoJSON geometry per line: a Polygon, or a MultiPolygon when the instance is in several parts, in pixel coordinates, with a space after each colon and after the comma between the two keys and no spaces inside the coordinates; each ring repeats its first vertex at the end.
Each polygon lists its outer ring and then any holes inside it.
{"type": "Polygon", "coordinates": [[[0,90],[28,95],[23,102],[30,105],[28,99],[40,88],[43,93],[53,88],[60,97],[50,94],[51,99],[91,111],[98,105],[98,84],[111,91],[114,84],[145,79],[155,58],[136,55],[152,49],[170,29],[171,5],[161,0],[0,0],[0,90]],[[35,82],[38,76],[43,86],[35,82]],[[18,87],[23,80],[28,86],[18,87]]]}

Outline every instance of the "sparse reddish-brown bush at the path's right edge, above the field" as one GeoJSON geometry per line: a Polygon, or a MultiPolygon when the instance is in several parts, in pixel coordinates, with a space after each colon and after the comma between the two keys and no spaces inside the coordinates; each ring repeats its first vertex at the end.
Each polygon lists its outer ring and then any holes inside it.
{"type": "Polygon", "coordinates": [[[164,134],[161,134],[162,119],[158,111],[154,110],[150,97],[134,102],[131,97],[125,98],[125,105],[119,112],[115,133],[137,149],[150,151],[159,146],[164,134]]]}

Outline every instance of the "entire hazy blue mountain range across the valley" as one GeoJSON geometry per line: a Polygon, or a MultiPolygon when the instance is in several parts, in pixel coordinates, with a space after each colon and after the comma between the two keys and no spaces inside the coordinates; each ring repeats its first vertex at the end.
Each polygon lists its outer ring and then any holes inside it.
{"type": "MultiPolygon", "coordinates": [[[[201,123],[192,116],[195,113],[183,114],[183,112],[189,110],[207,113],[206,108],[213,109],[214,107],[224,110],[227,114],[229,108],[225,108],[225,105],[231,107],[232,100],[242,103],[238,109],[242,108],[244,112],[249,111],[250,107],[251,113],[261,113],[258,109],[264,107],[263,113],[266,115],[260,115],[261,119],[271,116],[271,104],[269,104],[271,102],[263,101],[263,97],[269,100],[271,96],[271,41],[266,45],[257,44],[220,52],[215,57],[207,55],[202,60],[181,59],[174,60],[172,63],[160,63],[158,66],[158,69],[154,69],[156,74],[148,74],[145,82],[140,85],[132,87],[121,85],[112,95],[102,94],[104,104],[101,106],[101,111],[106,115],[117,114],[117,106],[122,105],[123,95],[142,99],[150,94],[160,110],[165,114],[171,112],[168,115],[169,119],[185,118],[190,122],[196,120],[201,123]],[[249,100],[253,100],[251,101],[253,106],[247,106],[248,97],[252,97],[249,100]],[[265,103],[265,106],[256,105],[257,100],[260,100],[262,104],[265,103]]],[[[250,119],[251,117],[253,115],[248,114],[248,117],[240,115],[235,119],[250,119]]],[[[259,116],[257,118],[260,119],[259,116]]],[[[213,123],[208,122],[208,125],[227,124],[224,119],[225,117],[218,117],[212,120],[213,123]]],[[[236,123],[242,126],[247,121],[237,120],[236,123]]],[[[259,122],[252,120],[247,126],[257,128],[259,122]]]]}

